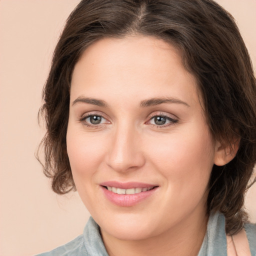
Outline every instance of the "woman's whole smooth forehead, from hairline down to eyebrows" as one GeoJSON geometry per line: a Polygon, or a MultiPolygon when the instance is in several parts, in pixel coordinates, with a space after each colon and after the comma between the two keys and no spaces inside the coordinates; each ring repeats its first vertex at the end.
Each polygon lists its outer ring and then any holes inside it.
{"type": "Polygon", "coordinates": [[[73,70],[70,96],[79,94],[123,100],[182,97],[188,104],[198,101],[196,79],[184,68],[178,49],[142,35],[103,38],[91,44],[73,70]]]}

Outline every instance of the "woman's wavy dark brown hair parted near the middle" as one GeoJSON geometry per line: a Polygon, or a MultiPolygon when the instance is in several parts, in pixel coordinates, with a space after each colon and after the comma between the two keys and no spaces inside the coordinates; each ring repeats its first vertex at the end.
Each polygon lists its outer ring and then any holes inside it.
{"type": "Polygon", "coordinates": [[[52,189],[75,189],[66,152],[72,70],[88,45],[103,37],[152,35],[174,44],[196,78],[214,139],[239,149],[232,161],[213,166],[208,212],[226,217],[236,233],[246,219],[244,193],[256,161],[256,86],[252,65],[232,16],[213,0],[82,0],[67,19],[43,89],[47,132],[44,173],[52,189]]]}

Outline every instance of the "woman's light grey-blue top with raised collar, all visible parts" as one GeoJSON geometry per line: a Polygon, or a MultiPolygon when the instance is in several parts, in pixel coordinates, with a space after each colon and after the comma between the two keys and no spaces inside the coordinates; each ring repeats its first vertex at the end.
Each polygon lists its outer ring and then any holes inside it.
{"type": "MultiPolygon", "coordinates": [[[[249,241],[251,256],[256,256],[256,224],[244,226],[249,241]]],[[[198,256],[226,256],[225,217],[221,213],[211,214],[207,223],[198,256]]],[[[99,233],[99,226],[89,218],[83,234],[49,252],[37,256],[108,256],[99,233]]]]}

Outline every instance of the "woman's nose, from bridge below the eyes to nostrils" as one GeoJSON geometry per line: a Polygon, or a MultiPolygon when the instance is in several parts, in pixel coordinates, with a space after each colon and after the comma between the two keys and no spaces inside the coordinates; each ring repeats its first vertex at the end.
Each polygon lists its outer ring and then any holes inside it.
{"type": "Polygon", "coordinates": [[[106,157],[107,165],[118,172],[138,169],[145,163],[141,136],[134,128],[116,128],[106,157]]]}

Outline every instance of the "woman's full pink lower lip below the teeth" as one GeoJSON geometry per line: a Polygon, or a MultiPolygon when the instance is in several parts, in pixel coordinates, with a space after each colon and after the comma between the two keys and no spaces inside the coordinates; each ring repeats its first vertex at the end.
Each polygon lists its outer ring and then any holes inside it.
{"type": "Polygon", "coordinates": [[[109,191],[103,186],[101,186],[101,188],[103,190],[104,195],[110,202],[118,206],[125,206],[125,207],[133,206],[145,200],[157,190],[157,187],[154,187],[153,189],[150,189],[148,191],[144,191],[136,194],[117,194],[112,191],[109,191]]]}

